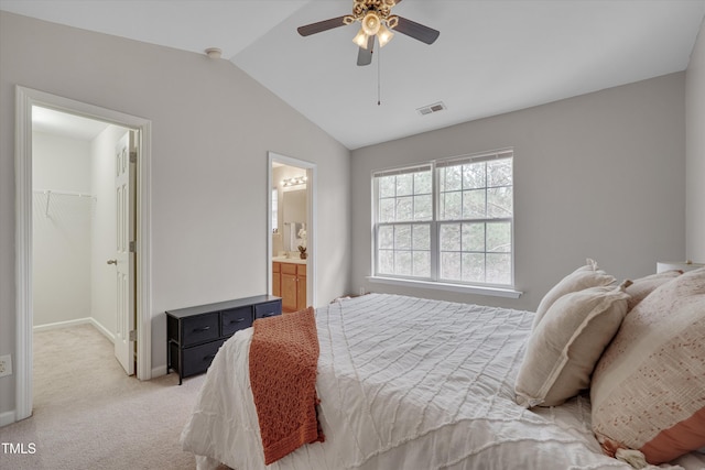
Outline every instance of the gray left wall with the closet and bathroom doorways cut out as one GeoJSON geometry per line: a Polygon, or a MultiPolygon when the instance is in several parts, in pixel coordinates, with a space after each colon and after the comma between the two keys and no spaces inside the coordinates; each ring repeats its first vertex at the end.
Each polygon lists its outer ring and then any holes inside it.
{"type": "MultiPolygon", "coordinates": [[[[345,293],[349,151],[231,63],[2,12],[0,70],[0,354],[15,348],[15,85],[152,121],[153,369],[165,309],[265,292],[268,151],[317,164],[318,302],[345,293]]],[[[0,378],[0,415],[14,387],[0,378]]]]}

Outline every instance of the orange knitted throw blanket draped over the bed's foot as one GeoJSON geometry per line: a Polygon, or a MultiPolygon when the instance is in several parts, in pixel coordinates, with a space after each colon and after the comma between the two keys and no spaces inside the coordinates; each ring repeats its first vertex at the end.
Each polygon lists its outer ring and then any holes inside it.
{"type": "Polygon", "coordinates": [[[316,414],[318,335],[312,307],[258,319],[253,328],[250,385],[270,464],[325,439],[316,414]]]}

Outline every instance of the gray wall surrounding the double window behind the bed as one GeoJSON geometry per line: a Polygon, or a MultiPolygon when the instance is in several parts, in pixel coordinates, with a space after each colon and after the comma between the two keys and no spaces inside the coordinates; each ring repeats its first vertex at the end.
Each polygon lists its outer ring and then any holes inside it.
{"type": "Polygon", "coordinates": [[[616,277],[685,255],[685,74],[677,73],[352,152],[352,275],[358,292],[535,309],[595,259],[616,277]],[[370,173],[514,147],[519,299],[369,283],[370,173]]]}

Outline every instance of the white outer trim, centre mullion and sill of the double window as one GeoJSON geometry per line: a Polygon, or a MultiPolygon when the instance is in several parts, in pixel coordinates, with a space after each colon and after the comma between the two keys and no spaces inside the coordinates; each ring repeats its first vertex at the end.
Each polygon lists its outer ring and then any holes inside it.
{"type": "MultiPolygon", "coordinates": [[[[397,167],[397,168],[389,168],[389,170],[378,170],[378,171],[373,171],[371,173],[371,178],[372,178],[372,243],[371,243],[371,267],[372,267],[372,275],[366,276],[366,278],[372,283],[382,283],[382,284],[389,284],[389,285],[398,285],[398,286],[406,286],[406,287],[421,287],[421,288],[431,288],[431,289],[438,289],[438,291],[448,291],[448,292],[456,292],[456,293],[465,293],[465,294],[478,294],[478,295],[488,295],[488,296],[497,296],[497,297],[506,297],[506,298],[519,298],[523,292],[521,291],[517,291],[514,288],[516,286],[516,280],[514,280],[514,256],[516,256],[516,243],[514,243],[514,237],[513,237],[513,231],[514,231],[514,215],[513,215],[513,210],[512,210],[512,216],[511,216],[511,227],[512,227],[512,250],[511,250],[511,281],[512,284],[511,285],[492,285],[492,284],[466,284],[466,283],[454,283],[454,282],[448,282],[448,281],[443,281],[443,280],[429,280],[429,278],[422,278],[422,277],[404,277],[404,276],[386,276],[383,274],[377,274],[377,251],[378,251],[378,247],[377,247],[377,240],[376,238],[376,227],[378,225],[377,221],[377,210],[378,210],[378,195],[377,195],[377,186],[375,183],[375,179],[377,177],[380,176],[387,176],[387,175],[394,175],[394,174],[403,174],[403,173],[411,173],[417,170],[422,170],[422,168],[426,168],[430,167],[430,170],[433,172],[433,198],[434,198],[434,207],[433,207],[433,220],[431,221],[432,226],[437,226],[438,220],[436,220],[437,218],[437,201],[436,201],[436,192],[437,192],[437,174],[436,171],[440,167],[444,167],[444,166],[449,166],[449,165],[457,165],[459,162],[460,163],[465,163],[465,162],[478,162],[478,161],[489,161],[489,160],[496,160],[496,159],[505,159],[508,156],[508,154],[511,155],[511,159],[513,160],[513,149],[512,147],[507,147],[507,149],[499,149],[496,151],[489,151],[489,152],[481,152],[481,153],[477,153],[477,154],[469,154],[469,155],[462,155],[462,156],[454,156],[454,157],[449,157],[449,159],[443,159],[443,160],[433,160],[433,161],[429,161],[429,162],[423,162],[416,165],[410,165],[410,166],[402,166],[402,167],[397,167]]],[[[512,183],[512,187],[513,187],[513,183],[512,183]]],[[[421,221],[420,221],[421,222],[421,221]]],[[[421,222],[421,223],[427,223],[427,222],[421,222]]],[[[437,242],[437,237],[436,237],[436,242],[437,242]]],[[[432,251],[434,250],[434,248],[432,248],[432,251]]],[[[436,260],[437,262],[437,256],[432,258],[432,260],[436,260]]],[[[433,263],[433,261],[432,261],[433,263]]],[[[435,273],[435,275],[437,275],[437,266],[434,267],[432,266],[432,273],[435,273]]]]}

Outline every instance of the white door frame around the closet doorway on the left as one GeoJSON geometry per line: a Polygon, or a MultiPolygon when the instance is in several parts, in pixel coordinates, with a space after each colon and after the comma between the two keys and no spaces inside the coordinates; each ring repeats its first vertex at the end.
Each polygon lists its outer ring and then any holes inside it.
{"type": "Polygon", "coordinates": [[[32,106],[78,114],[140,132],[137,163],[137,378],[152,378],[150,120],[15,86],[15,420],[32,415],[32,106]]]}

